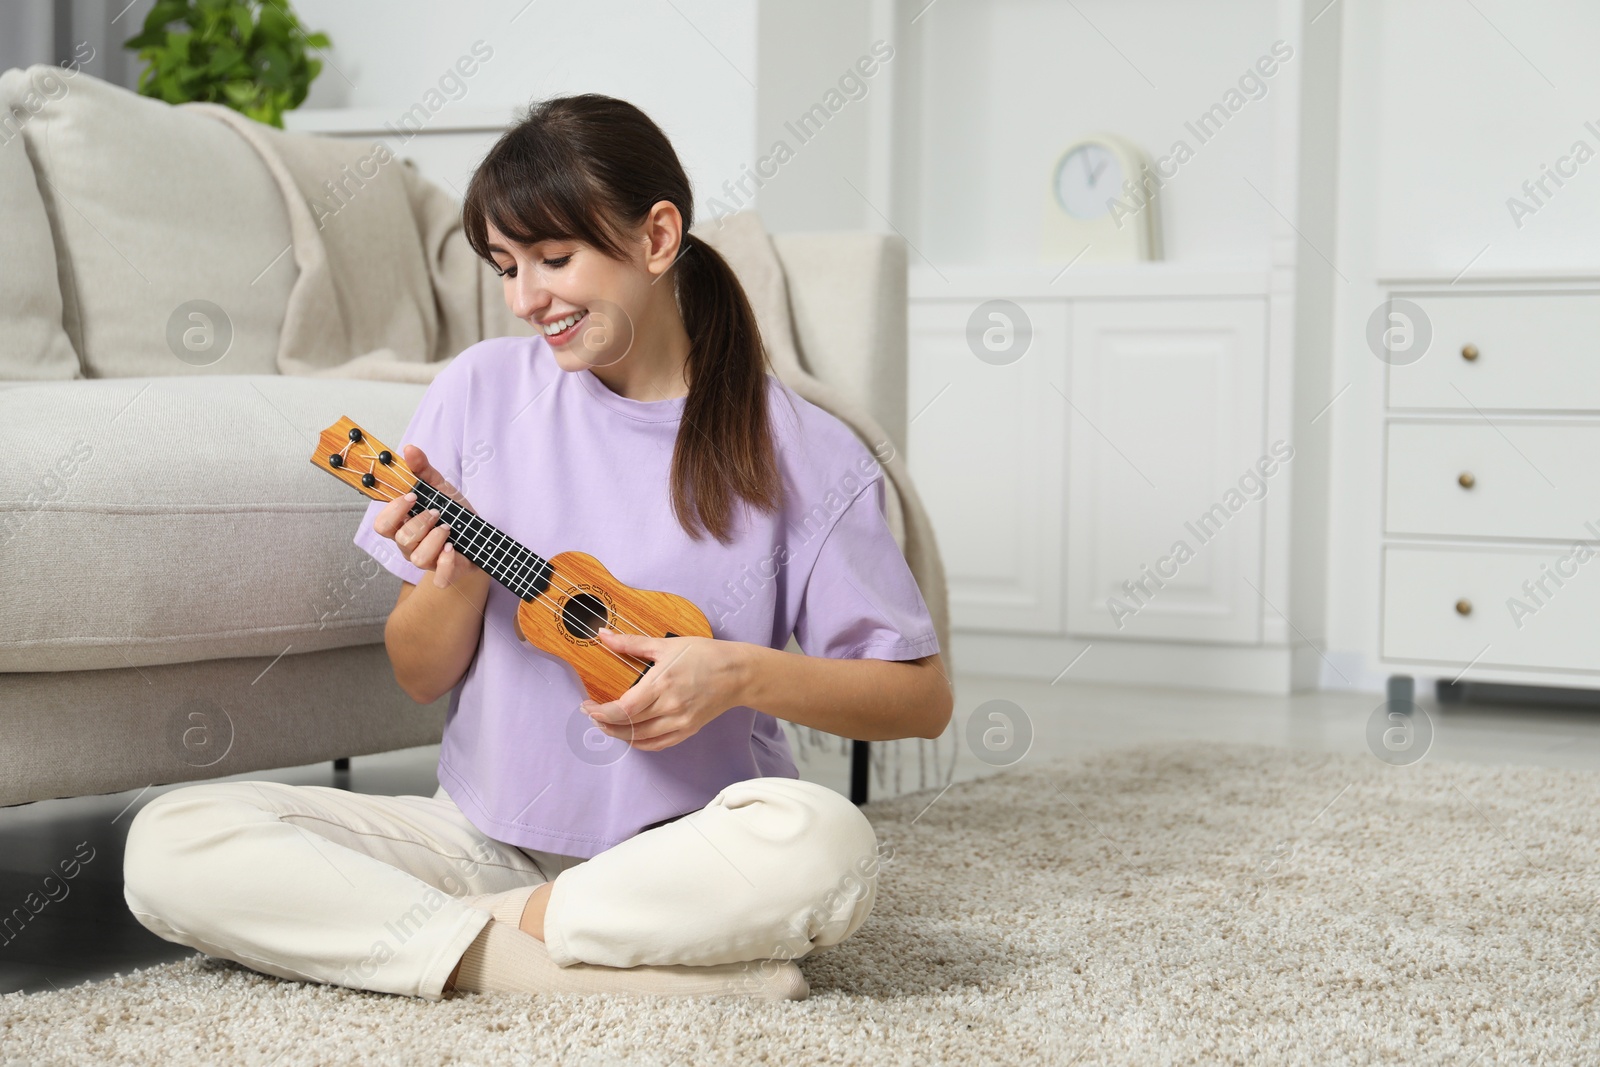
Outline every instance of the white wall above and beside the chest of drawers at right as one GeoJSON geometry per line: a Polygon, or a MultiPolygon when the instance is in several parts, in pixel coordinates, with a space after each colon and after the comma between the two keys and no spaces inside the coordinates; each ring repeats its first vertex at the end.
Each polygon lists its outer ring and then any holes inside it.
{"type": "MultiPolygon", "coordinates": [[[[1384,365],[1366,347],[1378,278],[1600,272],[1600,6],[1339,0],[1344,70],[1328,654],[1378,689],[1384,365]],[[1573,141],[1597,158],[1518,229],[1506,200],[1573,141]]],[[[1550,186],[1554,190],[1554,184],[1550,186]]],[[[1597,323],[1600,328],[1600,323],[1597,323]]],[[[1402,669],[1408,670],[1408,669],[1402,669]]],[[[1323,670],[1325,686],[1342,686],[1323,670]]]]}

